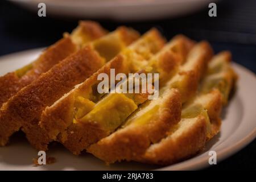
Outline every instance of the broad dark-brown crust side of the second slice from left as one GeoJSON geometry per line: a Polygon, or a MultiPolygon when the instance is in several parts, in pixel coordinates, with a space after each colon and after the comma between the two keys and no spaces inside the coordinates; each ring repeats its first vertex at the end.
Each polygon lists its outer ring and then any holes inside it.
{"type": "MultiPolygon", "coordinates": [[[[38,125],[40,114],[76,84],[89,77],[104,61],[90,46],[67,57],[37,80],[20,90],[0,111],[0,141],[5,145],[8,138],[21,126],[38,125]]],[[[26,129],[23,129],[26,130],[26,129]]],[[[28,136],[27,136],[28,137],[28,136]]],[[[28,138],[38,146],[38,139],[28,138]]],[[[40,148],[39,148],[40,149],[40,148]]]]}

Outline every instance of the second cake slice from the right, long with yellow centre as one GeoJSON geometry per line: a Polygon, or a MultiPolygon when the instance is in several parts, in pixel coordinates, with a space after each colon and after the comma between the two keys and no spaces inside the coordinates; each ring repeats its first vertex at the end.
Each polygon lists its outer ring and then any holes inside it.
{"type": "Polygon", "coordinates": [[[160,87],[159,98],[142,104],[119,130],[92,144],[88,152],[107,163],[135,160],[143,155],[151,143],[166,137],[180,121],[181,98],[186,101],[195,95],[191,85],[197,88],[211,56],[212,48],[207,42],[196,44],[174,77],[160,87]]]}

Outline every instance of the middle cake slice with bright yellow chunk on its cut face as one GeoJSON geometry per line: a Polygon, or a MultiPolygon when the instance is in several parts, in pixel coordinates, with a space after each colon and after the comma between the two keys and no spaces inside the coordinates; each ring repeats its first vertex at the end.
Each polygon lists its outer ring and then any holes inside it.
{"type": "Polygon", "coordinates": [[[140,102],[144,101],[143,95],[137,95],[135,101],[125,94],[116,93],[111,97],[99,94],[97,92],[97,85],[100,82],[97,80],[98,75],[106,73],[110,76],[110,68],[114,68],[116,74],[137,72],[163,45],[164,39],[157,30],[148,31],[141,39],[124,49],[105,67],[94,73],[92,77],[77,85],[55,104],[47,107],[40,121],[42,129],[46,131],[49,138],[59,140],[73,154],[80,154],[90,143],[113,130],[118,123],[137,109],[140,102]],[[118,106],[124,103],[127,107],[118,106]],[[63,106],[65,110],[59,114],[63,106]],[[112,114],[111,111],[114,113],[112,114]],[[104,125],[104,120],[111,116],[115,117],[113,125],[104,125]],[[92,120],[93,122],[90,122],[92,120]]]}

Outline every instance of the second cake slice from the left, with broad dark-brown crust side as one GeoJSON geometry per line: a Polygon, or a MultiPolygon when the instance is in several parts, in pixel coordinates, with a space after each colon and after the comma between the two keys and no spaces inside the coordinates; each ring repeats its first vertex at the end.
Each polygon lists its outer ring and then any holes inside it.
{"type": "Polygon", "coordinates": [[[101,57],[102,52],[96,51],[101,43],[108,46],[109,50],[113,48],[113,52],[117,53],[117,49],[121,51],[126,44],[137,38],[138,33],[134,30],[118,28],[88,46],[82,47],[20,90],[0,110],[0,144],[5,145],[10,135],[22,127],[32,146],[40,150],[46,149],[44,142],[38,142],[40,139],[47,140],[38,126],[44,108],[52,105],[73,86],[84,81],[105,64],[109,57],[101,57]]]}

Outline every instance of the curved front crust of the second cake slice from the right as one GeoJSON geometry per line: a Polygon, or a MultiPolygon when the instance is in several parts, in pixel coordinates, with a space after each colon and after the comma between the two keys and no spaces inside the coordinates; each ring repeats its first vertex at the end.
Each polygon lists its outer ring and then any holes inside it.
{"type": "Polygon", "coordinates": [[[151,143],[166,137],[170,127],[180,121],[181,100],[177,89],[171,89],[159,102],[160,108],[150,121],[139,125],[130,123],[109,137],[92,144],[88,152],[107,163],[133,160],[144,154],[151,143]]]}

